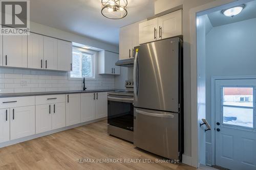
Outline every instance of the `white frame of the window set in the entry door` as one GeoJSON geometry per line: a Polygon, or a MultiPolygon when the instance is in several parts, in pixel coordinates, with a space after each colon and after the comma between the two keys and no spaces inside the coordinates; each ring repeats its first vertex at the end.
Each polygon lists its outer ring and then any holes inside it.
{"type": "Polygon", "coordinates": [[[228,127],[228,128],[234,128],[234,129],[241,129],[241,130],[247,130],[247,131],[254,131],[256,129],[255,127],[255,94],[256,94],[256,90],[255,90],[255,87],[256,86],[221,86],[221,124],[223,127],[228,127]],[[253,91],[252,91],[252,99],[253,99],[253,105],[252,107],[251,106],[233,106],[233,105],[224,105],[224,88],[225,87],[236,87],[236,88],[239,88],[239,87],[245,87],[245,88],[252,88],[253,91]],[[232,125],[232,124],[225,124],[224,123],[224,117],[223,117],[223,114],[224,114],[224,107],[231,107],[231,108],[246,108],[246,109],[252,109],[252,114],[253,114],[253,119],[252,119],[252,128],[251,127],[245,127],[245,126],[239,126],[239,125],[232,125]]]}

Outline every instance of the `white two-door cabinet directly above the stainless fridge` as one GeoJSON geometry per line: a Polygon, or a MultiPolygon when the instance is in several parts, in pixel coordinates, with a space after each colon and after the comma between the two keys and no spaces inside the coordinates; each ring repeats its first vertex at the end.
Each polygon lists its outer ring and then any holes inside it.
{"type": "Polygon", "coordinates": [[[182,35],[182,10],[139,24],[139,43],[147,43],[182,35]]]}

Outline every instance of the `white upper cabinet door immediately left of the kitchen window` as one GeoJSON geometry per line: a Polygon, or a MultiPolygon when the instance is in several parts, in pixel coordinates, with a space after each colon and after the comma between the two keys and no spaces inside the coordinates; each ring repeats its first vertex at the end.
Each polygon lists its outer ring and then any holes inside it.
{"type": "Polygon", "coordinates": [[[71,71],[72,42],[58,40],[58,70],[71,71]]]}

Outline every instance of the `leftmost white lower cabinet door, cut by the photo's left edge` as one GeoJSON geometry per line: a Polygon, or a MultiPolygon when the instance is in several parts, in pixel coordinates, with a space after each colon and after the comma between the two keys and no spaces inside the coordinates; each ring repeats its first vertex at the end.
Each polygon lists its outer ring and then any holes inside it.
{"type": "Polygon", "coordinates": [[[10,140],[10,109],[0,110],[0,143],[10,140]]]}

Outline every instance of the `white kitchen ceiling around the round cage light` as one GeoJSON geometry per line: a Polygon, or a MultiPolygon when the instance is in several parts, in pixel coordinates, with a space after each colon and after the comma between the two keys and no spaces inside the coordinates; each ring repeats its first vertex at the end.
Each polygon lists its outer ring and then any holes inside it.
{"type": "Polygon", "coordinates": [[[101,14],[101,0],[30,0],[30,19],[49,27],[119,43],[119,28],[154,15],[154,0],[127,0],[125,18],[101,14]]]}

